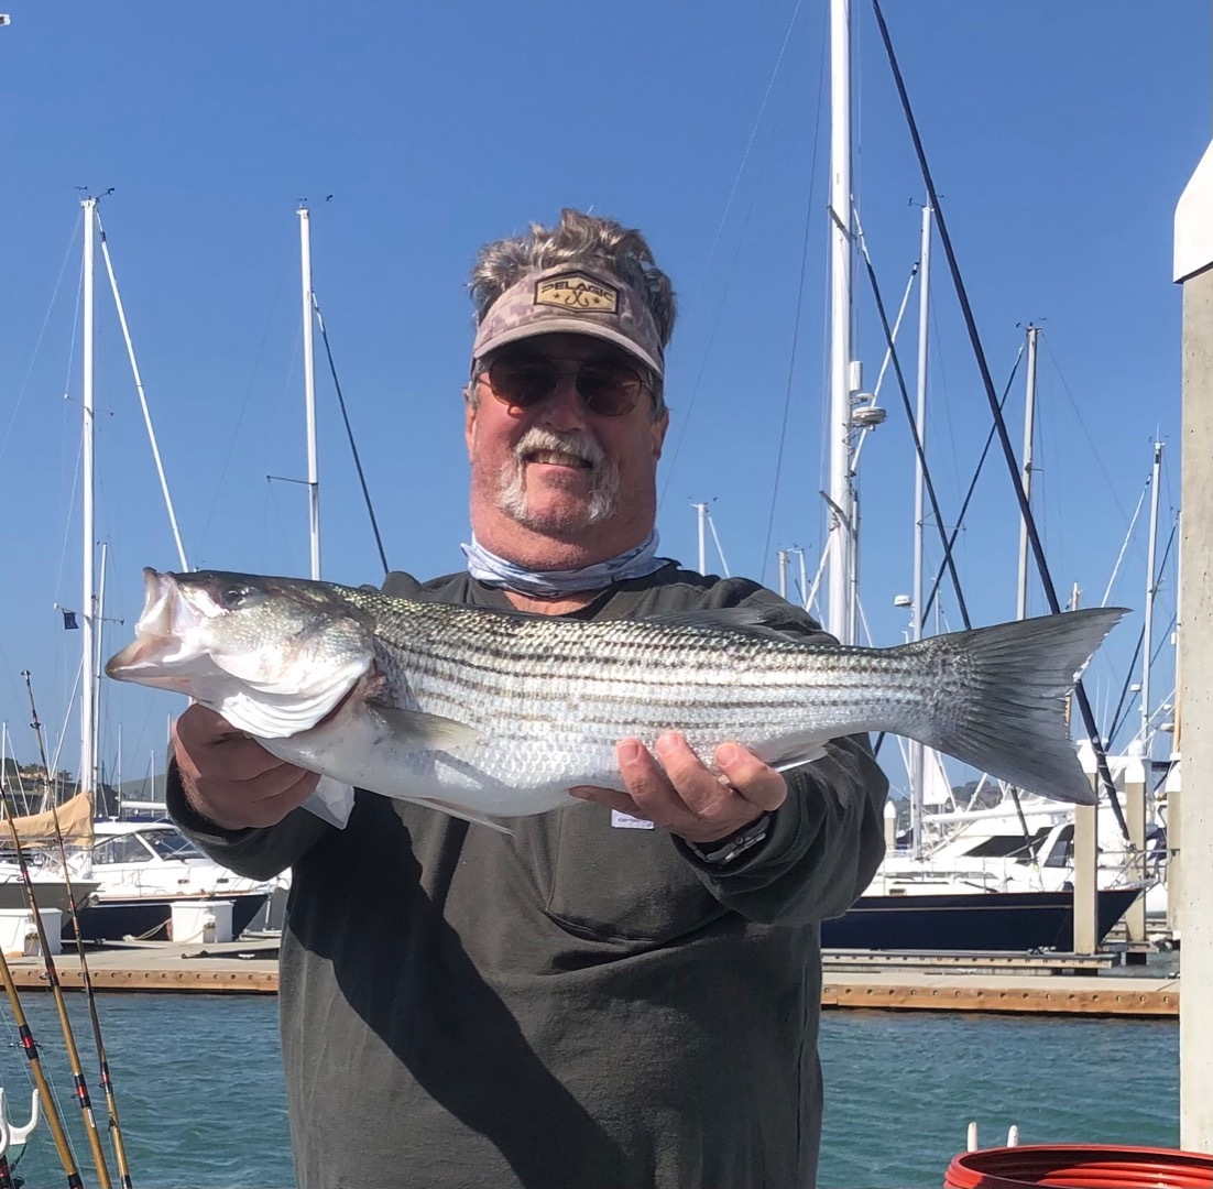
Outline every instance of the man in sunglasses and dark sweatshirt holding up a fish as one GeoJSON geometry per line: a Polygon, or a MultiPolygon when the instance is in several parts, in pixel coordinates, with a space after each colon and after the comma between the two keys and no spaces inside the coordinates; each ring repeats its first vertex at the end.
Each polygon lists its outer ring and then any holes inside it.
{"type": "MultiPolygon", "coordinates": [[[[480,251],[465,391],[467,573],[389,593],[585,619],[762,607],[656,557],[667,278],[639,233],[562,212],[480,251]]],[[[218,861],[292,867],[283,1053],[296,1176],[494,1189],[810,1187],[821,1122],[816,922],[883,854],[867,740],[780,774],[727,739],[621,740],[627,792],[512,819],[513,836],[317,778],[200,706],[169,803],[218,861]]]]}

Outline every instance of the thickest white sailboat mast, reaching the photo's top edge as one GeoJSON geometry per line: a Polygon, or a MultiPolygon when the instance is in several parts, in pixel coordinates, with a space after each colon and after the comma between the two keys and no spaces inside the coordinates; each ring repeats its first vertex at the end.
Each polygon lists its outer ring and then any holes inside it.
{"type": "MultiPolygon", "coordinates": [[[[830,0],[830,632],[854,641],[852,450],[850,0],[830,0]]],[[[856,386],[858,387],[858,386],[856,386]]]]}

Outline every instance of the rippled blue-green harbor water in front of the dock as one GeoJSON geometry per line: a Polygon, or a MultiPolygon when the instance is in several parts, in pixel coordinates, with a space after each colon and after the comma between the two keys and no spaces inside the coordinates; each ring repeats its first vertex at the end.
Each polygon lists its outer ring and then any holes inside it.
{"type": "MultiPolygon", "coordinates": [[[[67,999],[96,1087],[84,996],[67,999]]],[[[22,1003],[84,1183],[95,1185],[53,1001],[29,992],[22,1003]]],[[[101,995],[98,1012],[136,1189],[292,1189],[274,996],[101,995]]],[[[2,1016],[0,1080],[11,1117],[23,1123],[27,1060],[6,1007],[2,1016]]],[[[819,1184],[938,1189],[970,1120],[983,1147],[1006,1143],[1014,1123],[1023,1143],[1173,1148],[1178,1040],[1173,1020],[826,1012],[819,1184]]],[[[99,1090],[91,1092],[104,1123],[99,1090]]],[[[63,1184],[45,1123],[16,1171],[27,1189],[63,1184]]]]}

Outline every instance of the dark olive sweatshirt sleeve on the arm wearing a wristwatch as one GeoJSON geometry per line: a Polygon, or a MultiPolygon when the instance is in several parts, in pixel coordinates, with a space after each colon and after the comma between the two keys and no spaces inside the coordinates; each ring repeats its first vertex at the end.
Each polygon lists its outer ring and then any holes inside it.
{"type": "MultiPolygon", "coordinates": [[[[747,599],[767,603],[768,592],[747,599]]],[[[809,643],[835,643],[808,615],[769,596],[773,622],[809,643]]],[[[785,773],[787,800],[752,854],[727,866],[700,859],[680,840],[679,853],[727,908],[768,925],[807,925],[842,916],[884,858],[884,801],[889,781],[867,735],[826,744],[826,755],[785,773]]]]}

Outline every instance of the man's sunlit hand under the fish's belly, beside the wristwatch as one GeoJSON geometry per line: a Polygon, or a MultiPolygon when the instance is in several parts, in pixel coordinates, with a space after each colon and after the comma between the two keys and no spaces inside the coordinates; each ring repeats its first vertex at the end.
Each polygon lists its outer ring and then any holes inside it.
{"type": "Polygon", "coordinates": [[[787,797],[787,781],[738,744],[722,744],[717,776],[700,763],[683,735],[667,732],[654,757],[638,739],[619,744],[619,770],[627,792],[579,785],[569,793],[609,809],[645,818],[688,842],[717,842],[736,834],[787,797]]]}

